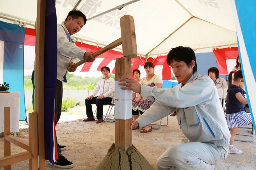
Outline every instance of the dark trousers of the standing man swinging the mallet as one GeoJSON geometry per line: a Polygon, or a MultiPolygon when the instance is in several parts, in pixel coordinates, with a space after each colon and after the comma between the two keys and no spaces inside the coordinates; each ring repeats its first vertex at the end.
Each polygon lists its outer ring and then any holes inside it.
{"type": "Polygon", "coordinates": [[[61,105],[62,105],[62,81],[56,81],[56,92],[55,92],[55,106],[54,106],[54,117],[55,117],[55,125],[58,123],[61,115],[61,105]]]}

